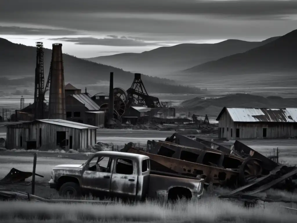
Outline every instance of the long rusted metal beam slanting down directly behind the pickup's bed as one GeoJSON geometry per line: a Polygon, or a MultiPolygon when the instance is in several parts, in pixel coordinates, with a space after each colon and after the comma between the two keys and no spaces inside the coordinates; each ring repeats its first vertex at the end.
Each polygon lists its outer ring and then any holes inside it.
{"type": "MultiPolygon", "coordinates": [[[[238,172],[227,170],[219,167],[212,167],[203,164],[193,163],[180,159],[160,156],[156,154],[146,153],[135,148],[127,148],[128,153],[142,154],[149,156],[151,159],[151,169],[155,170],[154,164],[158,163],[162,166],[173,170],[182,175],[192,175],[198,178],[203,178],[205,183],[212,182],[214,185],[234,186],[237,182],[238,172]]],[[[159,170],[159,169],[158,169],[159,170]]],[[[159,170],[162,171],[162,170],[159,170]]],[[[163,170],[164,171],[164,170],[163,170]]],[[[166,171],[166,170],[165,170],[166,171]]]]}

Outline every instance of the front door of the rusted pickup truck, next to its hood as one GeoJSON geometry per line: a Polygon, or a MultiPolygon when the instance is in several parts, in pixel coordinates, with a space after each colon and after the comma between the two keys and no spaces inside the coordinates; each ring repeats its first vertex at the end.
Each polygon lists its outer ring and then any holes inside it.
{"type": "Polygon", "coordinates": [[[109,197],[112,167],[113,158],[95,156],[83,170],[82,189],[99,197],[109,197]]]}

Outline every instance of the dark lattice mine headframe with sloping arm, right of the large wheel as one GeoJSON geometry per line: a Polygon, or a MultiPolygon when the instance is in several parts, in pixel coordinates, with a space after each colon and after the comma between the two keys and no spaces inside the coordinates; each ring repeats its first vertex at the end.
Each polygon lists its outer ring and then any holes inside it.
{"type": "Polygon", "coordinates": [[[134,81],[127,90],[128,106],[162,107],[159,98],[150,96],[141,80],[141,74],[135,73],[134,81]]]}

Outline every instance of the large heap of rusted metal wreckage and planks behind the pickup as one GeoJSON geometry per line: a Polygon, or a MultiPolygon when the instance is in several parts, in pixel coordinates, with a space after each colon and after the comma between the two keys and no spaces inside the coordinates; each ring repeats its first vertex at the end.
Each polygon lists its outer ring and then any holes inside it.
{"type": "Polygon", "coordinates": [[[279,164],[237,140],[228,148],[174,133],[165,141],[148,140],[146,148],[128,143],[121,151],[149,156],[151,170],[203,178],[206,187],[232,189],[221,198],[255,200],[255,194],[270,188],[297,189],[297,167],[279,164]]]}

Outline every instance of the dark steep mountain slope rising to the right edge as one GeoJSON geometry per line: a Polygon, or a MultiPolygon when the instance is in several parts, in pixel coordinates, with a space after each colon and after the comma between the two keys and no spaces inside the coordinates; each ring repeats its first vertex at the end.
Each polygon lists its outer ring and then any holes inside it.
{"type": "Polygon", "coordinates": [[[206,62],[185,70],[199,73],[296,73],[297,30],[247,52],[206,62]]]}

